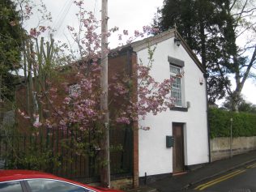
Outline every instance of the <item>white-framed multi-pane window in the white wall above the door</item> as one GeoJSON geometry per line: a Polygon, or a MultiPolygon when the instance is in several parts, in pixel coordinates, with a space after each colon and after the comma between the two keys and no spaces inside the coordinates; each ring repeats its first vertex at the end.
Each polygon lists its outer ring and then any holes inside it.
{"type": "Polygon", "coordinates": [[[172,79],[171,96],[177,107],[182,107],[181,67],[170,65],[170,78],[172,79]]]}

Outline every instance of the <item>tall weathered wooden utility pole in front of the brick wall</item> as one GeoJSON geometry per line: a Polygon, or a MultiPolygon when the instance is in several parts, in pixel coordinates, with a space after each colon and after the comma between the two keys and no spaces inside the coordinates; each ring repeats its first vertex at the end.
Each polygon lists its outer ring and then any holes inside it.
{"type": "Polygon", "coordinates": [[[108,102],[108,0],[102,0],[101,6],[101,70],[100,70],[100,109],[103,112],[101,128],[101,169],[100,181],[102,186],[110,188],[110,160],[109,160],[109,102],[108,102]]]}

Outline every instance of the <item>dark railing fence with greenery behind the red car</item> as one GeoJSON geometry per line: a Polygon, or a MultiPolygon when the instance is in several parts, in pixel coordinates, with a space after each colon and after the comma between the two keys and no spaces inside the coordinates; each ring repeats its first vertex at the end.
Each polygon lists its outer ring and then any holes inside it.
{"type": "MultiPolygon", "coordinates": [[[[132,130],[109,130],[112,177],[132,175],[132,130]]],[[[99,180],[99,149],[92,131],[45,129],[0,131],[0,159],[6,169],[36,169],[60,177],[99,180]]]]}

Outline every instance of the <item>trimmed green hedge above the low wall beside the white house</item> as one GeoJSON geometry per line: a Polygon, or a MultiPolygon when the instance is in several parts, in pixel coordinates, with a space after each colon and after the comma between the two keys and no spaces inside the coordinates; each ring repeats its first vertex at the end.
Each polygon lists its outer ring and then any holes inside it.
{"type": "Polygon", "coordinates": [[[230,136],[230,119],[233,118],[233,137],[256,136],[256,114],[233,113],[221,109],[209,109],[211,139],[230,136]]]}

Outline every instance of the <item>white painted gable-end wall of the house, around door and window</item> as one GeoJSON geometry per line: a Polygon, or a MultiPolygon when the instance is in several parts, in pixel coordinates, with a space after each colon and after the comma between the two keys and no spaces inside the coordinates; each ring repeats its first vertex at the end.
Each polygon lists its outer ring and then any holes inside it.
{"type": "MultiPolygon", "coordinates": [[[[183,83],[184,100],[190,101],[188,112],[168,110],[157,116],[147,115],[139,122],[141,126],[150,126],[151,130],[139,130],[139,177],[173,172],[173,148],[166,148],[166,135],[172,135],[173,122],[183,122],[185,164],[202,164],[208,162],[207,141],[207,98],[206,86],[199,84],[203,73],[194,63],[186,49],[174,45],[173,38],[156,45],[154,64],[151,75],[159,82],[169,79],[168,56],[185,62],[183,83]]],[[[138,60],[147,64],[147,49],[137,53],[138,60]]],[[[185,102],[186,104],[186,102],[185,102]]]]}

